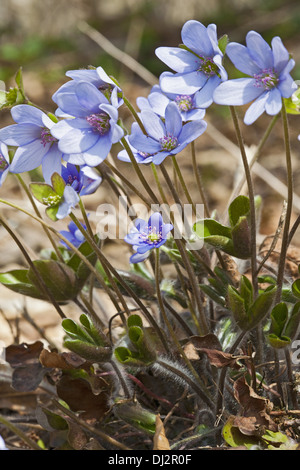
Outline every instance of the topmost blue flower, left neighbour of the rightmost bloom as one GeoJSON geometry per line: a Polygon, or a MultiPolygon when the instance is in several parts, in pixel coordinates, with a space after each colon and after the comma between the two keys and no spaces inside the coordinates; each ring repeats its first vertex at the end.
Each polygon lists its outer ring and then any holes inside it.
{"type": "Polygon", "coordinates": [[[213,102],[215,88],[227,80],[216,25],[206,28],[199,21],[187,21],[181,38],[184,47],[158,47],[155,51],[157,57],[176,72],[163,76],[160,87],[164,93],[195,94],[197,107],[207,108],[213,102]]]}

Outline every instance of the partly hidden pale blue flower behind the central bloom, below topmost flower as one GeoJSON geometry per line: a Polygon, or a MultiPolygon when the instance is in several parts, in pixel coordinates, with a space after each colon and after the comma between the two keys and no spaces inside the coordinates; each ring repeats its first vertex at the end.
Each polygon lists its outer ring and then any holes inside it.
{"type": "MultiPolygon", "coordinates": [[[[172,73],[164,72],[161,74],[160,82],[164,77],[170,76],[172,73]]],[[[195,121],[203,119],[205,110],[199,108],[196,104],[195,95],[180,95],[177,93],[163,93],[159,85],[154,85],[147,98],[138,97],[136,102],[140,110],[152,109],[156,114],[165,117],[166,107],[174,101],[177,105],[183,122],[195,121]]]]}

